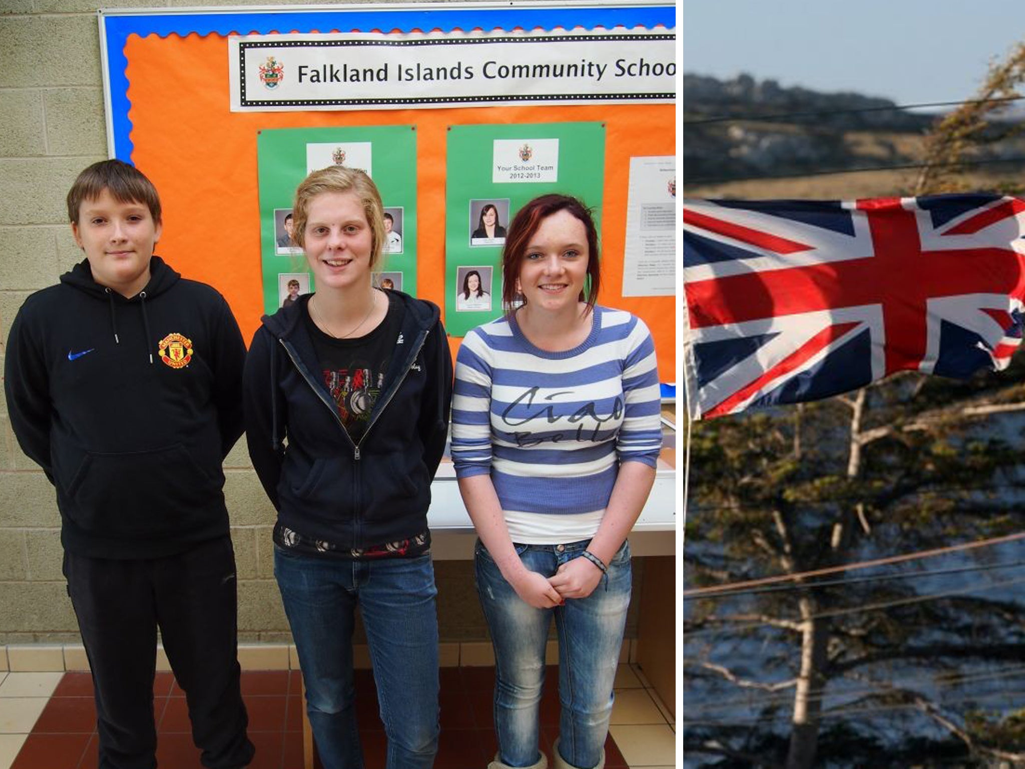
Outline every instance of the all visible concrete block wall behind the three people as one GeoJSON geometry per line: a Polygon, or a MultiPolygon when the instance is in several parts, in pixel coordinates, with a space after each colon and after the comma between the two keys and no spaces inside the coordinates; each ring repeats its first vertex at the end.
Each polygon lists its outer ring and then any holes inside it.
{"type": "MultiPolygon", "coordinates": [[[[295,0],[296,2],[300,0],[295,0]]],[[[281,3],[281,0],[278,0],[281,3]]],[[[222,5],[204,0],[105,0],[102,7],[222,5]]],[[[242,4],[242,3],[238,3],[242,4]]],[[[281,3],[286,4],[286,3],[281,3]]],[[[0,3],[0,355],[25,298],[81,259],[65,196],[78,172],[107,158],[99,37],[93,0],[0,3]]],[[[0,394],[2,399],[2,394],[0,394]]],[[[274,510],[240,441],[225,462],[244,642],[288,642],[274,582],[274,510]]],[[[14,440],[0,406],[0,646],[79,640],[61,576],[53,489],[14,440]]],[[[638,559],[641,561],[642,559],[638,559]]],[[[634,569],[643,573],[641,563],[634,569]]],[[[473,564],[438,562],[442,638],[487,638],[473,564]]],[[[636,576],[637,578],[637,576],[636,576]]],[[[637,624],[631,612],[628,636],[637,624]]]]}

